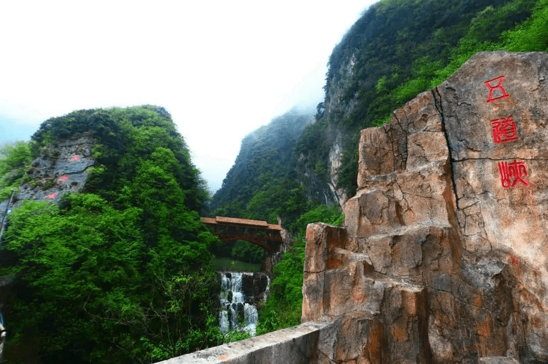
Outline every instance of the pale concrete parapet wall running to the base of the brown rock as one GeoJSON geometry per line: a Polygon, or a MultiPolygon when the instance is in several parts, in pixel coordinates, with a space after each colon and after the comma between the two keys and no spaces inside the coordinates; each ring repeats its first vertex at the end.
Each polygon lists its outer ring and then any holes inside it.
{"type": "Polygon", "coordinates": [[[320,331],[331,322],[306,322],[267,334],[223,344],[157,364],[307,364],[317,361],[320,331]]]}

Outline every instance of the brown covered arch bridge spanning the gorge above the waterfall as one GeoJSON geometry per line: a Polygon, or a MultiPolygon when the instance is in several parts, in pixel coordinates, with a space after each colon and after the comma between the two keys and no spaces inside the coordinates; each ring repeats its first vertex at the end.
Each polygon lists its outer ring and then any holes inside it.
{"type": "Polygon", "coordinates": [[[261,271],[272,276],[272,265],[282,246],[288,246],[287,231],[281,225],[269,224],[262,220],[248,220],[215,216],[202,218],[202,222],[209,226],[221,242],[235,242],[244,240],[261,246],[265,250],[262,259],[261,271]]]}

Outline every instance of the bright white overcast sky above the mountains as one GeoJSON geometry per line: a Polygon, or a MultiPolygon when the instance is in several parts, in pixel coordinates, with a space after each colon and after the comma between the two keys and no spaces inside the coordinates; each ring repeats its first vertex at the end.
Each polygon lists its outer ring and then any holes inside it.
{"type": "Polygon", "coordinates": [[[156,104],[214,192],[248,133],[323,99],[373,0],[2,1],[0,143],[73,110],[156,104]]]}

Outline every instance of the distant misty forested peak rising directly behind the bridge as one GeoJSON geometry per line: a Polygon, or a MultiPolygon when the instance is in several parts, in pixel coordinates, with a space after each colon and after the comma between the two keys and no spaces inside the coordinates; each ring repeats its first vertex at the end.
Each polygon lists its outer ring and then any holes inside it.
{"type": "Polygon", "coordinates": [[[213,196],[217,215],[276,222],[294,213],[292,195],[305,199],[294,166],[295,145],[313,116],[297,109],[272,119],[242,139],[236,161],[213,196]]]}

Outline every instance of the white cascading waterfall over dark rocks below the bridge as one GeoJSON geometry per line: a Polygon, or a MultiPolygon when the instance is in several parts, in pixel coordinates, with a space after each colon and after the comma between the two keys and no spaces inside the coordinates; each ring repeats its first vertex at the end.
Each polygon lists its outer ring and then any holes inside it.
{"type": "Polygon", "coordinates": [[[223,333],[238,329],[255,336],[259,315],[254,304],[256,299],[265,300],[270,279],[257,273],[221,273],[221,307],[219,328],[223,333]],[[244,281],[246,284],[244,284],[244,281]],[[256,284],[264,281],[266,284],[256,284]],[[246,289],[244,289],[246,286],[246,289]],[[259,289],[257,287],[259,286],[259,289]],[[261,292],[258,292],[261,291],[261,292]]]}

